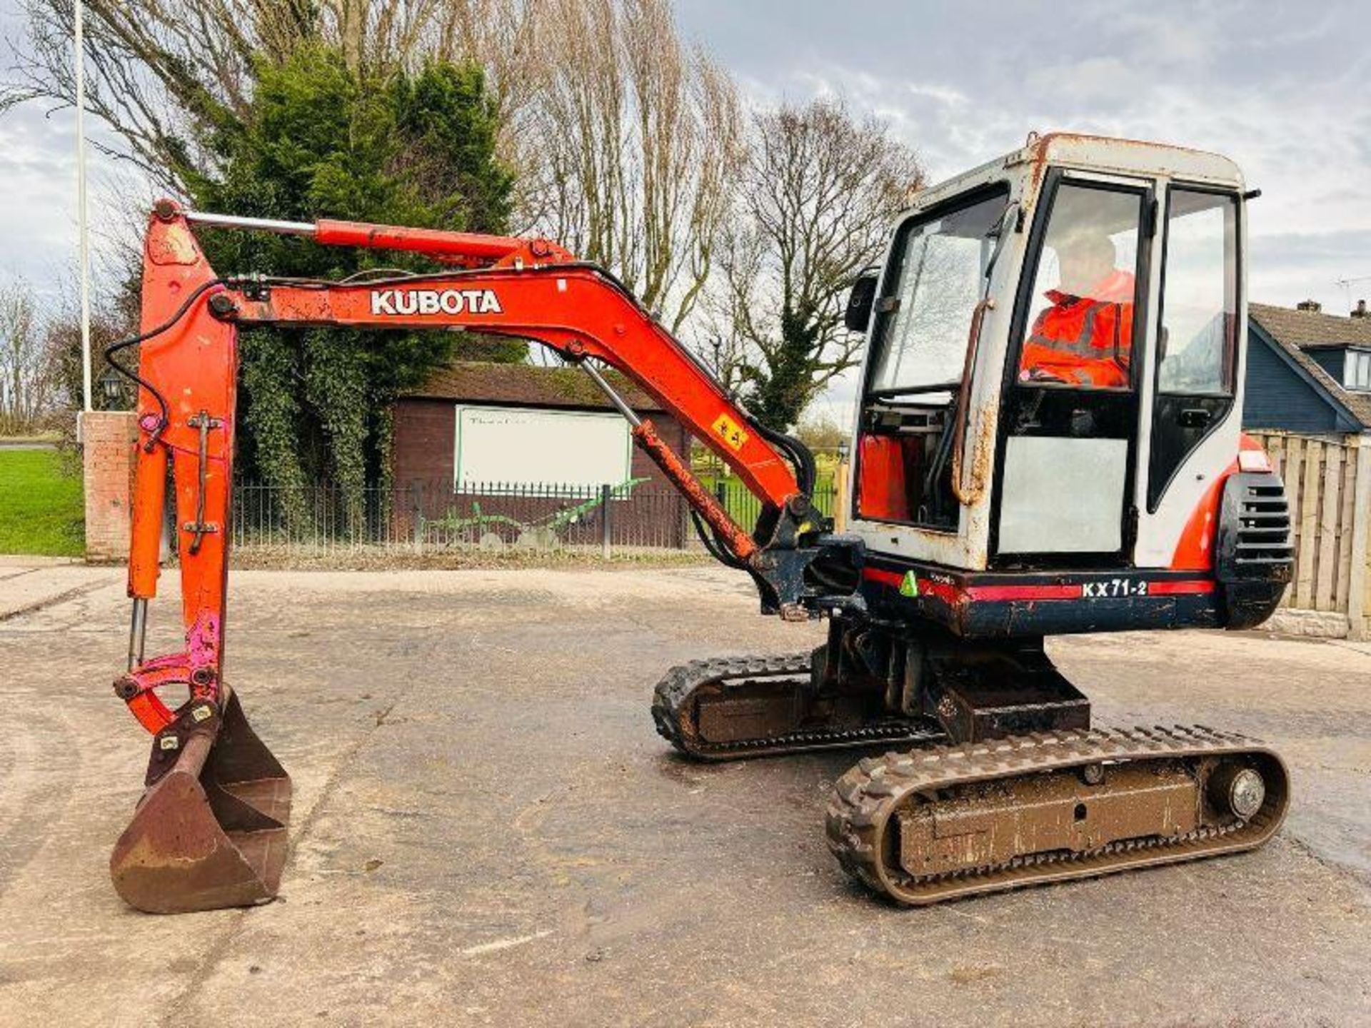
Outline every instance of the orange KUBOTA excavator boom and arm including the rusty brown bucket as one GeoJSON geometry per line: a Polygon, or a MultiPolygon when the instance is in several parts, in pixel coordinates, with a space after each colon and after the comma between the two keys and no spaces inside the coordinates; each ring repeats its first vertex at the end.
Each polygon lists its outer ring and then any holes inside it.
{"type": "Polygon", "coordinates": [[[133,622],[128,672],[114,688],[154,740],[147,788],[110,858],[115,888],[130,906],[177,913],[265,902],[277,892],[285,859],[291,779],[252,732],[222,673],[237,333],[239,326],[256,325],[473,329],[542,343],[585,369],[628,418],[633,441],[684,493],[709,551],[751,576],[765,613],[801,620],[862,603],[861,546],[829,536],[827,521],[813,510],[809,451],[754,424],[602,267],[546,240],[271,222],[160,201],[144,245],[140,332],[106,351],[111,365],[138,384],[133,622]],[[410,251],[447,267],[347,281],[221,276],[196,238],[197,223],[410,251]],[[137,371],[118,359],[134,344],[141,347],[137,371]],[[598,365],[638,382],[733,469],[761,499],[751,532],[729,517],[598,365]],[[169,482],[185,648],[145,659],[169,482]],[[824,566],[812,567],[820,558],[824,566]],[[173,709],[158,695],[162,687],[188,688],[189,696],[173,709]]]}

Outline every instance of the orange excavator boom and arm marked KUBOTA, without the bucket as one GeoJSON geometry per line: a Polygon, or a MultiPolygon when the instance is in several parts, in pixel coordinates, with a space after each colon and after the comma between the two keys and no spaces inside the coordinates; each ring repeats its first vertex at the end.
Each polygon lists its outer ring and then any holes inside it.
{"type": "MultiPolygon", "coordinates": [[[[632,422],[635,443],[684,493],[696,524],[706,529],[712,552],[751,574],[764,610],[805,618],[832,592],[831,583],[818,585],[806,574],[820,551],[836,543],[824,535],[824,519],[810,504],[813,465],[808,451],[755,425],[603,269],[579,262],[546,240],[330,221],[263,222],[189,212],[162,201],[149,219],[144,251],[141,351],[134,376],[140,436],[129,559],[134,609],[129,672],[117,683],[118,694],[154,733],[177,717],[158,698],[159,687],[186,683],[192,700],[219,700],[237,328],[260,325],[473,329],[535,340],[581,365],[605,389],[632,422]],[[343,282],[221,277],[196,240],[197,223],[293,233],[326,245],[413,251],[457,267],[343,282]],[[595,363],[636,381],[733,469],[762,502],[751,532],[729,517],[653,422],[624,403],[595,363]],[[156,592],[169,477],[186,647],[145,661],[147,602],[156,592]]],[[[121,345],[115,344],[111,355],[121,345]]],[[[825,609],[832,606],[831,600],[824,603],[825,609]]]]}

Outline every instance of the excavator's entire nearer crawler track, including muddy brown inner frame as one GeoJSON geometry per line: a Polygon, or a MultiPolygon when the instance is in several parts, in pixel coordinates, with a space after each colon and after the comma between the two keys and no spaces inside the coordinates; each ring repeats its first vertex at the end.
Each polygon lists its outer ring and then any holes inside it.
{"type": "Polygon", "coordinates": [[[1208,728],[1063,731],[887,754],[839,779],[828,846],[909,906],[1253,850],[1290,777],[1208,728]]]}

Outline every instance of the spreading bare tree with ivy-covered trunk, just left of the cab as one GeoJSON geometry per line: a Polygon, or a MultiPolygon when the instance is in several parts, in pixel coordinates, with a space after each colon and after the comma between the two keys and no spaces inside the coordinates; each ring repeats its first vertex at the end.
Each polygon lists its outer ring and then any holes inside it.
{"type": "Polygon", "coordinates": [[[784,429],[858,360],[862,340],[842,325],[847,289],[924,171],[880,121],[836,100],[762,111],[749,143],[710,308],[731,380],[784,429]]]}

